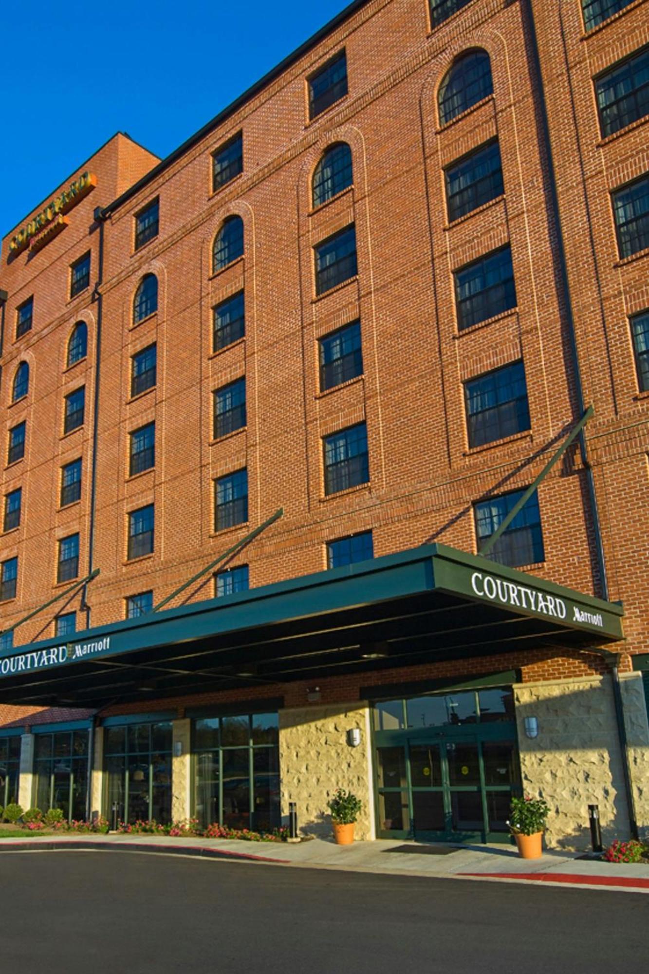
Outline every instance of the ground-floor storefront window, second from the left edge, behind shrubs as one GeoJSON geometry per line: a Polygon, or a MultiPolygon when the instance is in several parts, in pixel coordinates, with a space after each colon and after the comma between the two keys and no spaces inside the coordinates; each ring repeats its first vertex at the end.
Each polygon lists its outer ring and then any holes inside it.
{"type": "Polygon", "coordinates": [[[88,731],[36,733],[33,804],[60,808],[68,821],[86,818],[88,731]]]}

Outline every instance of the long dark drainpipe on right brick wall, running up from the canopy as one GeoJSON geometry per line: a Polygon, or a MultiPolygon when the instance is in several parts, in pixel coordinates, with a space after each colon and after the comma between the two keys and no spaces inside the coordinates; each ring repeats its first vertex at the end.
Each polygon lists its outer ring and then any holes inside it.
{"type": "MultiPolygon", "coordinates": [[[[548,109],[546,104],[546,93],[543,87],[543,75],[541,73],[541,60],[539,57],[539,46],[536,36],[536,26],[534,23],[534,12],[532,10],[531,0],[522,0],[520,4],[522,11],[523,24],[526,27],[527,37],[529,39],[529,65],[532,74],[533,87],[539,93],[538,105],[539,105],[539,116],[541,123],[541,140],[543,143],[543,148],[546,153],[548,162],[548,173],[549,178],[547,180],[547,192],[548,192],[548,202],[553,214],[554,223],[556,226],[556,252],[558,255],[559,273],[560,273],[560,283],[562,297],[565,306],[565,318],[567,323],[568,340],[570,347],[570,357],[572,358],[573,364],[573,374],[575,379],[575,393],[577,394],[577,409],[580,415],[583,415],[586,409],[586,403],[584,400],[584,388],[582,385],[582,373],[579,364],[579,351],[577,349],[577,339],[575,336],[575,319],[572,310],[572,298],[570,294],[570,284],[568,282],[568,270],[565,260],[565,246],[563,244],[563,228],[561,226],[561,216],[558,206],[558,196],[556,193],[556,179],[554,176],[554,158],[552,143],[550,141],[550,126],[548,122],[548,109]],[[526,22],[525,22],[526,21],[526,22]]],[[[600,592],[601,598],[608,601],[608,580],[606,576],[606,561],[604,558],[604,548],[601,540],[601,527],[599,523],[599,510],[597,507],[597,498],[594,489],[594,478],[592,476],[592,467],[589,460],[588,445],[586,442],[585,431],[582,430],[579,433],[579,451],[582,457],[582,463],[584,469],[586,470],[586,480],[588,484],[589,492],[589,506],[591,508],[592,517],[592,528],[594,532],[594,547],[595,547],[595,558],[597,561],[597,571],[600,579],[600,592]]]]}

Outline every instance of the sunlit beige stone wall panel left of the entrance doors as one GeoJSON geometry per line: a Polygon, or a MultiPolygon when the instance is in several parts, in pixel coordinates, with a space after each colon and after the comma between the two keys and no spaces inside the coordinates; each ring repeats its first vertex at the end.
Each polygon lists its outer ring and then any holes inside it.
{"type": "Polygon", "coordinates": [[[357,839],[374,838],[368,710],[358,704],[310,706],[280,711],[282,814],[297,804],[299,831],[331,835],[327,799],[346,788],[363,802],[357,839]],[[347,731],[358,728],[361,744],[350,747],[347,731]]]}

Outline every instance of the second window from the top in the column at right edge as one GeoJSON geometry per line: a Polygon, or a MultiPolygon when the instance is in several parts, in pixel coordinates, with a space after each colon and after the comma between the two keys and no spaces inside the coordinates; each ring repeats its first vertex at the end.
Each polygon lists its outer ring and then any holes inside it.
{"type": "Polygon", "coordinates": [[[595,79],[602,138],[649,114],[649,48],[595,79]]]}

